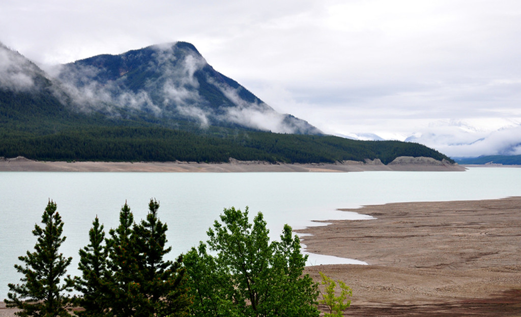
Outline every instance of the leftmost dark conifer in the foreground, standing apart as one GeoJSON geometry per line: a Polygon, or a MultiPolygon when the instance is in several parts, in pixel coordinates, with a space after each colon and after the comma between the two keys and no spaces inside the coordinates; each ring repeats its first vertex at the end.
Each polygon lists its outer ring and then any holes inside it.
{"type": "Polygon", "coordinates": [[[72,258],[59,253],[66,237],[62,236],[64,223],[52,200],[42,215],[42,224],[43,228],[35,224],[32,231],[37,237],[34,252],[27,251],[26,256],[18,258],[24,265],[15,264],[23,274],[22,283],[8,284],[10,292],[5,302],[7,307],[21,309],[16,312],[19,316],[69,316],[68,292],[72,291],[73,280],[65,274],[72,258]]]}

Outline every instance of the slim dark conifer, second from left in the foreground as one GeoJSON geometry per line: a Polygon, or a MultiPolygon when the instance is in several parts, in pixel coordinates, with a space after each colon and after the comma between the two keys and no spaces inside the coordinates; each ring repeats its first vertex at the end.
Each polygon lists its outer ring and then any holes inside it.
{"type": "Polygon", "coordinates": [[[79,251],[80,263],[78,269],[81,277],[76,277],[75,288],[82,296],[78,298],[78,305],[84,309],[80,316],[104,317],[108,312],[106,283],[107,249],[104,246],[105,232],[103,224],[96,217],[89,230],[89,245],[79,251]]]}

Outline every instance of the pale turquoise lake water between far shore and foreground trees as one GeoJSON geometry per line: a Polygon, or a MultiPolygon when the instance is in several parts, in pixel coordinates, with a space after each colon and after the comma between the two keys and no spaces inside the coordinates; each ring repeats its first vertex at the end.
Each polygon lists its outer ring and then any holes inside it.
{"type": "MultiPolygon", "coordinates": [[[[336,211],[363,205],[404,201],[492,199],[521,196],[521,168],[471,168],[465,172],[353,173],[86,173],[0,172],[0,298],[7,283],[18,283],[13,265],[33,250],[34,224],[49,199],[65,222],[65,256],[76,270],[78,250],[88,244],[96,215],[105,230],[116,227],[119,210],[128,202],[139,221],[148,201],[160,203],[159,217],[168,224],[170,258],[206,240],[206,231],[224,208],[262,211],[271,237],[282,226],[314,225],[312,220],[364,217],[336,211]]],[[[364,259],[357,259],[363,261],[364,259]]],[[[351,262],[311,256],[309,264],[351,262]]]]}

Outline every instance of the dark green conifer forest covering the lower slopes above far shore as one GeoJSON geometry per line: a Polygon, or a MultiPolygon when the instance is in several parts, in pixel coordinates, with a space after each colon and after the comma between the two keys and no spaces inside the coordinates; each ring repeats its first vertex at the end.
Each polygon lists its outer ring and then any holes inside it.
{"type": "Polygon", "coordinates": [[[237,127],[111,119],[68,111],[58,100],[31,93],[0,93],[0,156],[48,161],[259,160],[319,163],[399,156],[448,157],[416,143],[355,141],[329,135],[270,133],[237,127]],[[41,100],[40,100],[41,99],[41,100]],[[43,103],[44,101],[44,103],[43,103]],[[16,110],[15,110],[16,109],[16,110]]]}

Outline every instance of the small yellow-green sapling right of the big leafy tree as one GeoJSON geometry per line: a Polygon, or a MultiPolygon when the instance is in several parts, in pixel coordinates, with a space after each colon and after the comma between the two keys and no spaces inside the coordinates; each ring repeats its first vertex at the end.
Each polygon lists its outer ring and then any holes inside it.
{"type": "Polygon", "coordinates": [[[332,278],[326,276],[324,273],[319,272],[322,277],[321,284],[325,286],[324,293],[320,291],[322,299],[318,302],[327,306],[329,312],[324,314],[324,317],[342,317],[342,312],[351,306],[351,300],[348,300],[348,296],[353,296],[351,288],[345,285],[344,282],[338,280],[338,286],[340,287],[340,295],[336,295],[337,283],[332,278]]]}

